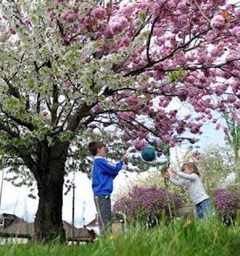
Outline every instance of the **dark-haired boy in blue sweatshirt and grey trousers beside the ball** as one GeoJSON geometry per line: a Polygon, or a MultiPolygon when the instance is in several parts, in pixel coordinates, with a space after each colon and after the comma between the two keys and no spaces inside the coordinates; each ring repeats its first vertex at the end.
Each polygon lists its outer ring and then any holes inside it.
{"type": "Polygon", "coordinates": [[[116,178],[124,162],[128,161],[128,157],[123,156],[116,165],[108,163],[105,158],[106,151],[103,142],[90,142],[89,151],[94,155],[92,190],[98,214],[98,226],[100,234],[106,237],[108,233],[111,233],[110,222],[112,213],[110,196],[113,190],[113,179],[116,178]]]}

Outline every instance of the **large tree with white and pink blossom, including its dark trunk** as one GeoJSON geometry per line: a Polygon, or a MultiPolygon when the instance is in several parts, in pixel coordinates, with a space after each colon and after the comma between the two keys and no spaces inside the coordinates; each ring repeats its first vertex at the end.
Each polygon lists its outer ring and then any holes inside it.
{"type": "Polygon", "coordinates": [[[240,8],[223,0],[2,0],[0,136],[4,166],[37,181],[37,240],[64,240],[69,151],[117,127],[129,150],[201,134],[239,109],[240,8]],[[173,99],[197,119],[179,116],[173,99]],[[74,147],[75,146],[75,147],[74,147]]]}

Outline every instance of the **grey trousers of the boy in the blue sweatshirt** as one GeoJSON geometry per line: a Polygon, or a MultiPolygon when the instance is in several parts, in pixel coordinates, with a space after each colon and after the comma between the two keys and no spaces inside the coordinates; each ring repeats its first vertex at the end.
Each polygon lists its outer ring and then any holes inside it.
{"type": "Polygon", "coordinates": [[[108,195],[99,195],[94,197],[96,211],[98,214],[98,226],[100,234],[106,238],[111,233],[111,199],[108,195]]]}

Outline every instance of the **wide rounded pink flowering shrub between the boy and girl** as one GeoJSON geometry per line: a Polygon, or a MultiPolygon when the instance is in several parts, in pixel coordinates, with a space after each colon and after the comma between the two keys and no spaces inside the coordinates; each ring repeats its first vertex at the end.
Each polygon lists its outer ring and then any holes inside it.
{"type": "Polygon", "coordinates": [[[168,202],[170,203],[172,214],[182,203],[182,199],[179,196],[156,186],[148,188],[135,187],[128,196],[115,202],[113,212],[127,214],[128,221],[143,222],[148,226],[152,226],[155,221],[159,221],[163,212],[165,212],[166,216],[170,216],[168,202]]]}

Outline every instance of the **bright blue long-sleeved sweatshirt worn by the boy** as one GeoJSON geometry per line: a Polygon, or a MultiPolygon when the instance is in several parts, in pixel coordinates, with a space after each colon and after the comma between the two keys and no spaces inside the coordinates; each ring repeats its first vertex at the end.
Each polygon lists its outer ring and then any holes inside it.
{"type": "Polygon", "coordinates": [[[94,158],[92,170],[92,190],[94,196],[111,195],[113,179],[116,178],[123,165],[124,162],[122,161],[113,166],[105,158],[94,158]]]}

